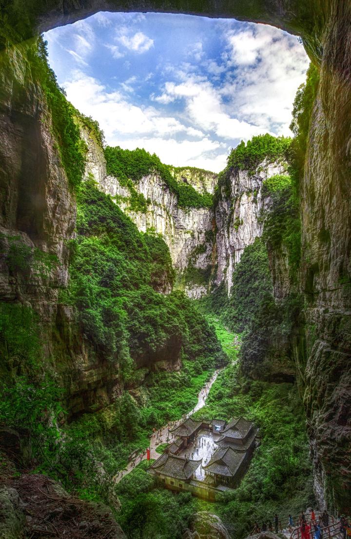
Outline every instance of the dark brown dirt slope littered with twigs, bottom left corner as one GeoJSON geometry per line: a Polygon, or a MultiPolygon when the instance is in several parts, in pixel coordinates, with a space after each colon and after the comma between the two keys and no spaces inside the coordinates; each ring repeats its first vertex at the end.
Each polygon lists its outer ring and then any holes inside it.
{"type": "Polygon", "coordinates": [[[107,506],[69,495],[46,475],[13,472],[0,469],[0,539],[125,539],[107,506]]]}

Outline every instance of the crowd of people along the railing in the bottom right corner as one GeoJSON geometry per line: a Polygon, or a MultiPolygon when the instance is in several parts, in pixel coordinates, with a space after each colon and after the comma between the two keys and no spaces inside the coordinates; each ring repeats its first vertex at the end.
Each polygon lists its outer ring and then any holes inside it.
{"type": "MultiPolygon", "coordinates": [[[[282,524],[280,523],[277,514],[275,514],[273,521],[275,533],[283,531],[282,524]]],[[[287,529],[290,533],[292,533],[293,530],[297,530],[298,539],[323,539],[323,531],[325,528],[328,528],[328,526],[329,515],[326,510],[319,515],[316,515],[312,509],[311,513],[308,513],[308,517],[306,517],[304,513],[301,513],[296,523],[294,523],[293,517],[289,515],[287,529]]],[[[342,539],[351,539],[351,522],[349,522],[345,516],[340,516],[338,523],[335,523],[335,531],[336,530],[340,532],[342,539]]],[[[258,523],[255,522],[252,535],[264,531],[273,531],[273,524],[271,520],[268,522],[263,521],[262,527],[259,527],[258,523]]],[[[329,536],[330,534],[328,533],[327,537],[329,536]]]]}

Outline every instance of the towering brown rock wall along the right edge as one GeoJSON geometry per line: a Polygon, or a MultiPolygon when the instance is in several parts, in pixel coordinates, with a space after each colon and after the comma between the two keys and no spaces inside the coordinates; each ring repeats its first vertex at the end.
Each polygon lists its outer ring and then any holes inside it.
{"type": "Polygon", "coordinates": [[[301,196],[305,405],[318,492],[351,505],[351,5],[330,2],[301,196]]]}

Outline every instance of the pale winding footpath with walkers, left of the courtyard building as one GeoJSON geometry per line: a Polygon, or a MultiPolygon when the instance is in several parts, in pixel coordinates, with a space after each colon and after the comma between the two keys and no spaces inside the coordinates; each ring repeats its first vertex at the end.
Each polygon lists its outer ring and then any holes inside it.
{"type": "MultiPolygon", "coordinates": [[[[182,421],[192,416],[194,412],[197,412],[198,410],[202,408],[202,406],[205,405],[209,390],[211,389],[212,384],[217,378],[218,373],[219,373],[219,370],[216,370],[214,374],[212,375],[212,377],[209,379],[209,381],[206,382],[206,384],[200,390],[199,395],[198,395],[198,402],[196,403],[195,407],[191,411],[189,411],[187,414],[184,414],[184,416],[182,416],[178,421],[172,421],[168,425],[161,427],[161,429],[159,429],[158,431],[155,431],[155,433],[152,434],[150,438],[150,458],[151,459],[158,459],[160,457],[160,453],[157,453],[156,447],[158,447],[160,444],[170,443],[174,438],[176,438],[175,436],[173,436],[173,434],[169,432],[169,429],[175,429],[175,427],[180,425],[182,421]]],[[[139,464],[139,462],[145,459],[146,459],[146,451],[142,455],[138,455],[138,457],[135,459],[135,465],[133,465],[133,462],[128,462],[128,466],[121,472],[117,472],[117,474],[114,476],[115,483],[119,483],[125,475],[129,474],[129,472],[131,472],[132,469],[134,469],[135,466],[139,464]]]]}

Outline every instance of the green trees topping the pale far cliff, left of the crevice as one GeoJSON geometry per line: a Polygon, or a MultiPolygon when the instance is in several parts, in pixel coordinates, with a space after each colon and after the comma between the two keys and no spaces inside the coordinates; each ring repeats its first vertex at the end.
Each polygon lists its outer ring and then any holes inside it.
{"type": "MultiPolygon", "coordinates": [[[[131,196],[134,196],[135,199],[136,190],[134,184],[143,176],[158,174],[170,191],[177,196],[180,208],[210,208],[213,204],[213,197],[209,193],[200,194],[192,185],[184,182],[178,183],[172,176],[170,167],[161,163],[156,154],[151,155],[141,148],[122,150],[119,146],[115,148],[107,146],[104,154],[107,174],[115,176],[120,185],[127,187],[131,196]]],[[[145,206],[142,201],[135,203],[134,211],[146,211],[146,209],[147,205],[145,206]],[[138,204],[141,206],[139,209],[138,204]]]]}

